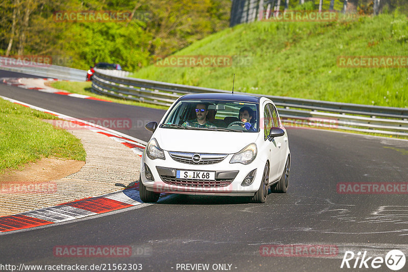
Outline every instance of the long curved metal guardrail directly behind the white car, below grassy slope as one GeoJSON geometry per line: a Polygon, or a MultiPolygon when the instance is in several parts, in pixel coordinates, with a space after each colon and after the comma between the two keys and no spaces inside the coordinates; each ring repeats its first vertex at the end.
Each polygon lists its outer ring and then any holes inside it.
{"type": "MultiPolygon", "coordinates": [[[[107,70],[95,69],[92,81],[94,92],[163,106],[170,106],[174,100],[189,93],[231,93],[231,91],[117,76],[111,73],[107,70]]],[[[239,92],[235,93],[238,94],[239,92]]],[[[408,108],[261,94],[259,96],[270,98],[278,107],[283,122],[291,126],[312,126],[408,136],[408,108]]]]}

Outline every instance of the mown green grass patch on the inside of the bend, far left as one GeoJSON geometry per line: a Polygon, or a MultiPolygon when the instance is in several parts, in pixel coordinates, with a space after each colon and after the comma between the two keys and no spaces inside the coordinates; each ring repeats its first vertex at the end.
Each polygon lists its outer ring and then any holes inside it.
{"type": "Polygon", "coordinates": [[[85,161],[79,139],[42,119],[57,117],[0,99],[0,173],[49,156],[85,161]]]}

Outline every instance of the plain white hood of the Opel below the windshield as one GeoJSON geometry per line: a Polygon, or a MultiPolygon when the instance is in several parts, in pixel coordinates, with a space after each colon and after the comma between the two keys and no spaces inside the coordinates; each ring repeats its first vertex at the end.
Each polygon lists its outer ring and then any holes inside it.
{"type": "Polygon", "coordinates": [[[259,133],[157,128],[153,137],[166,151],[233,154],[256,142],[259,133]]]}

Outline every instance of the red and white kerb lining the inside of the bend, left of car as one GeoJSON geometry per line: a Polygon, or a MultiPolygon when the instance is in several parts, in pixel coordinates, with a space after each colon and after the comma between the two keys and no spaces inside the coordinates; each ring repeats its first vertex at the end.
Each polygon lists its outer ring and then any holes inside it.
{"type": "MultiPolygon", "coordinates": [[[[48,111],[44,108],[23,103],[14,99],[10,99],[8,97],[0,96],[0,98],[19,105],[33,108],[37,111],[55,115],[60,119],[73,122],[77,125],[82,125],[86,129],[104,134],[109,138],[129,147],[134,153],[139,156],[142,155],[143,150],[147,144],[142,140],[103,126],[95,125],[67,115],[48,111]]],[[[80,219],[86,216],[106,213],[139,205],[143,202],[140,200],[138,190],[139,184],[135,183],[133,186],[127,187],[122,191],[106,194],[103,196],[75,200],[73,202],[62,203],[53,207],[3,216],[0,217],[0,233],[66,222],[70,220],[80,219]]],[[[161,194],[161,197],[165,197],[168,195],[169,194],[161,194]]]]}

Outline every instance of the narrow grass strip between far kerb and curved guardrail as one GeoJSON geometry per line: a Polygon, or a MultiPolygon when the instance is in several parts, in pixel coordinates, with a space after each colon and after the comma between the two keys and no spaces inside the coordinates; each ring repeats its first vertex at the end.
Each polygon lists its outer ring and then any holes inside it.
{"type": "Polygon", "coordinates": [[[160,108],[162,110],[167,110],[168,108],[166,106],[161,106],[161,105],[154,105],[154,104],[148,104],[148,103],[137,102],[137,101],[132,101],[132,100],[125,100],[124,98],[120,99],[120,98],[114,98],[114,97],[109,97],[105,95],[95,94],[92,92],[91,85],[92,85],[92,81],[87,81],[87,82],[55,81],[50,84],[50,86],[55,89],[64,90],[70,93],[88,95],[88,96],[108,100],[108,101],[115,102],[115,103],[160,108]]]}

